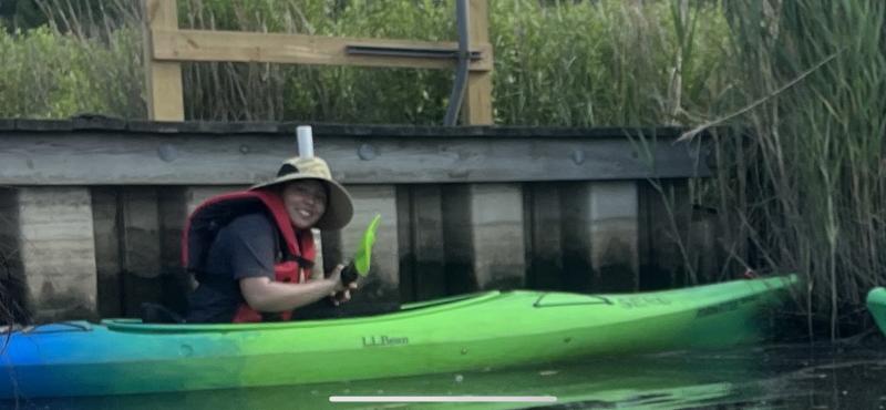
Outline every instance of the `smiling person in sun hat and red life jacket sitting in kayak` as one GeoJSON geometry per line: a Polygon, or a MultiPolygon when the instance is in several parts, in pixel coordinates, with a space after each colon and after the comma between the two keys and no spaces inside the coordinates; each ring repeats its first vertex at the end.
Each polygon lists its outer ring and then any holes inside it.
{"type": "Polygon", "coordinates": [[[311,228],[341,229],[352,215],[350,195],[319,157],[287,160],[274,180],[207,199],[184,230],[184,265],[198,283],[185,320],[288,320],[323,297],[350,299],[357,285],[341,283],[343,265],[311,278],[311,228]]]}

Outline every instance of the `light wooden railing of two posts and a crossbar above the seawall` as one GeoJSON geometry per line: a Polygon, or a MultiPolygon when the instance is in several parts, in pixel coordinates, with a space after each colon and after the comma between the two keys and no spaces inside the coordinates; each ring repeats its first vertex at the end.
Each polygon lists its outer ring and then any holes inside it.
{"type": "MultiPolygon", "coordinates": [[[[467,64],[462,104],[463,123],[492,124],[493,50],[488,33],[488,3],[487,0],[464,1],[467,10],[467,35],[464,39],[467,41],[466,51],[476,58],[467,64]]],[[[176,0],[143,0],[143,3],[146,16],[148,117],[157,121],[185,120],[182,62],[230,61],[416,69],[455,69],[457,62],[459,43],[455,41],[182,30],[178,28],[176,0]],[[374,52],[356,53],[354,48],[374,52]],[[453,58],[440,59],[432,55],[441,51],[452,52],[453,58]]]]}

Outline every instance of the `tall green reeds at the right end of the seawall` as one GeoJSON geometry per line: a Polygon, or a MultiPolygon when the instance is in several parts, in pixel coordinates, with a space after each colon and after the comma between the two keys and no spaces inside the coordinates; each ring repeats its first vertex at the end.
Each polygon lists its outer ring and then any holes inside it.
{"type": "Polygon", "coordinates": [[[803,274],[810,332],[838,337],[884,278],[886,4],[728,4],[729,93],[765,100],[734,122],[749,133],[715,141],[717,177],[704,184],[723,226],[740,227],[725,239],[749,246],[750,264],[803,274]]]}

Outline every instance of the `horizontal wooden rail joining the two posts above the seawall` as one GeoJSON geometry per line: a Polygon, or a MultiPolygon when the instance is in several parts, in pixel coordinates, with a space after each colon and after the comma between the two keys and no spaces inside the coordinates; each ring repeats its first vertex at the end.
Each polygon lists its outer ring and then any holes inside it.
{"type": "MultiPolygon", "coordinates": [[[[452,69],[455,60],[405,57],[353,55],[348,45],[383,47],[395,50],[457,50],[454,42],[360,39],[305,34],[259,33],[241,31],[155,29],[155,60],[162,61],[235,61],[318,65],[365,65],[415,69],[452,69]]],[[[482,59],[471,70],[492,70],[492,45],[488,41],[472,48],[482,59]]]]}

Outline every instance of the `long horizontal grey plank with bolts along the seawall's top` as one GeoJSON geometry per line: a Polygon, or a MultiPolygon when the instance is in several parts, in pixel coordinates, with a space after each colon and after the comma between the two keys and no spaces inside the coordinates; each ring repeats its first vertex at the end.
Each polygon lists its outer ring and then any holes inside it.
{"type": "MultiPolygon", "coordinates": [[[[0,184],[248,185],[292,152],[285,135],[4,133],[0,184]],[[135,165],[134,165],[135,164],[135,165]]],[[[697,175],[693,154],[655,144],[655,166],[624,137],[316,136],[348,184],[601,181],[697,175]]]]}

